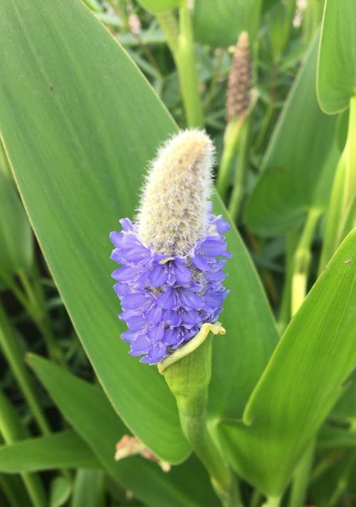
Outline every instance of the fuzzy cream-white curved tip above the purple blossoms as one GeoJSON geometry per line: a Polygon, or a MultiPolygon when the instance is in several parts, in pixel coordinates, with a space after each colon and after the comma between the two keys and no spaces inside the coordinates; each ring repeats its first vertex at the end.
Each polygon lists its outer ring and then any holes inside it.
{"type": "Polygon", "coordinates": [[[186,255],[207,227],[214,146],[201,130],[183,130],[159,150],[150,166],[137,215],[145,245],[186,255]]]}

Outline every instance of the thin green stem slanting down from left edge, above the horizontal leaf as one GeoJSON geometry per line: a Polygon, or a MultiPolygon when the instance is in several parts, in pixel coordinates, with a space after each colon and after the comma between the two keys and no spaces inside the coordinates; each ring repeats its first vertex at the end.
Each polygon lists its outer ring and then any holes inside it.
{"type": "Polygon", "coordinates": [[[49,434],[51,432],[51,429],[48,426],[46,418],[41,409],[41,405],[38,403],[32,378],[26,369],[25,363],[23,362],[23,353],[19,347],[19,342],[16,339],[12,324],[9,321],[1,304],[0,345],[7,362],[9,362],[11,370],[14,372],[16,380],[19,382],[21,391],[26,398],[26,401],[31,409],[34,419],[36,420],[38,428],[41,429],[41,432],[44,435],[49,434]]]}

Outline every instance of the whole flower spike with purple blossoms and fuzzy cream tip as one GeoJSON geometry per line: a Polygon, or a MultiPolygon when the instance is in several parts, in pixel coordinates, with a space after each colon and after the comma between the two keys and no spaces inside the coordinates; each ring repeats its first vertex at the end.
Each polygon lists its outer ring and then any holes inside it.
{"type": "Polygon", "coordinates": [[[229,225],[211,211],[214,148],[199,130],[169,140],[152,163],[139,212],[111,232],[112,277],[122,339],[130,354],[156,364],[214,323],[228,293],[222,282],[229,225]]]}

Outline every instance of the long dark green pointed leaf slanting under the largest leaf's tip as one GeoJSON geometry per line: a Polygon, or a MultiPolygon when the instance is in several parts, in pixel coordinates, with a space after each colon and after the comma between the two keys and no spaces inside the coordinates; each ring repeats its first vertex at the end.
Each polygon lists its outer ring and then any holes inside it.
{"type": "Polygon", "coordinates": [[[115,445],[128,430],[103,391],[39,356],[30,354],[28,361],[63,416],[90,446],[100,464],[125,489],[152,507],[167,507],[174,502],[199,507],[200,495],[204,505],[214,506],[209,478],[196,460],[174,467],[169,473],[138,457],[115,462],[115,445]]]}

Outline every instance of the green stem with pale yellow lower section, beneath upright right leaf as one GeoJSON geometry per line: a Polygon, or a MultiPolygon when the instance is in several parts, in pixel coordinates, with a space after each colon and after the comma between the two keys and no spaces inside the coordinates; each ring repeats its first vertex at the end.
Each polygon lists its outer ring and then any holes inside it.
{"type": "Polygon", "coordinates": [[[321,210],[318,208],[311,208],[309,210],[297,250],[295,251],[290,305],[292,316],[298,312],[307,293],[308,273],[311,260],[310,247],[313,242],[315,227],[318,224],[320,215],[321,210]]]}

